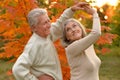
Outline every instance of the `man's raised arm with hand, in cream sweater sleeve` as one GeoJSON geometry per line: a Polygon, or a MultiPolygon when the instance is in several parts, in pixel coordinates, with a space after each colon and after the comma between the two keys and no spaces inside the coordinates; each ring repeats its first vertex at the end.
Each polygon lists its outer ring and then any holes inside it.
{"type": "Polygon", "coordinates": [[[73,14],[77,10],[83,10],[83,6],[88,5],[86,2],[79,2],[75,4],[74,6],[66,9],[63,14],[60,16],[59,19],[55,23],[52,23],[51,27],[51,38],[53,41],[57,40],[58,38],[62,37],[63,35],[63,28],[62,28],[62,23],[73,17],[73,14]]]}

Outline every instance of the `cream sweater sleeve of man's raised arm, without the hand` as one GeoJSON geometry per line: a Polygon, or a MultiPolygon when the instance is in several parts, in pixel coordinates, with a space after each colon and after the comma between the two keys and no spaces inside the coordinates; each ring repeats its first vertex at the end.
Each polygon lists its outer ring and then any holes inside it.
{"type": "Polygon", "coordinates": [[[63,34],[62,23],[65,20],[72,18],[73,14],[74,14],[74,12],[71,10],[71,8],[68,8],[63,12],[63,14],[60,16],[59,19],[57,19],[57,21],[55,23],[52,23],[51,38],[53,41],[62,37],[62,34],[63,34]]]}

